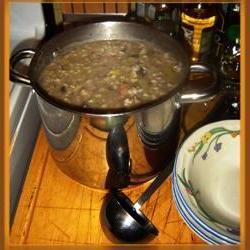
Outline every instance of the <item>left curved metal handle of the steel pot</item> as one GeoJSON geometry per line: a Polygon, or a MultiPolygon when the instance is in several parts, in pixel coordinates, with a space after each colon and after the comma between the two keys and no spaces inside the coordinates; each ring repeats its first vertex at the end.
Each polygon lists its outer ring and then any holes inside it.
{"type": "Polygon", "coordinates": [[[10,80],[16,83],[24,84],[25,86],[32,87],[32,83],[29,77],[18,72],[15,68],[16,65],[27,58],[33,58],[35,55],[35,50],[33,49],[23,49],[16,52],[10,58],[10,80]]]}

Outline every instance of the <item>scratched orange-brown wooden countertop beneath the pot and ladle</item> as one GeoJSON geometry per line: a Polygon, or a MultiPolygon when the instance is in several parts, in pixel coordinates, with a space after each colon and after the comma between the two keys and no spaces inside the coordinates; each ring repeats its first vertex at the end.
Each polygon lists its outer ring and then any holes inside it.
{"type": "MultiPolygon", "coordinates": [[[[212,104],[190,106],[185,122],[192,127],[212,104]]],[[[126,191],[135,201],[150,183],[126,191]]],[[[105,192],[72,180],[56,166],[41,128],[11,228],[11,244],[112,245],[100,224],[105,192]]],[[[160,233],[147,244],[206,244],[196,236],[176,210],[171,177],[142,208],[160,233]]]]}

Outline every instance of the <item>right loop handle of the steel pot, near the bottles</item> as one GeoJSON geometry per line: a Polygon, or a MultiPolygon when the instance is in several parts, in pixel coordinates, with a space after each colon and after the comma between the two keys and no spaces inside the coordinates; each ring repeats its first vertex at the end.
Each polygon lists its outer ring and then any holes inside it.
{"type": "Polygon", "coordinates": [[[189,79],[178,96],[178,103],[206,102],[213,99],[217,92],[218,76],[215,66],[192,64],[189,79]]]}

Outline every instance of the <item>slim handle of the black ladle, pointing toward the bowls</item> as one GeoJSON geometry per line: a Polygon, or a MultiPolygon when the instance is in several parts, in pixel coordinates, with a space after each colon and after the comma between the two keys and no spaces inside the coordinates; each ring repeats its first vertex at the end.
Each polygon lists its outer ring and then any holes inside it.
{"type": "Polygon", "coordinates": [[[151,185],[144,191],[144,193],[139,197],[139,199],[134,204],[134,207],[140,208],[151,196],[152,194],[160,187],[163,181],[171,174],[173,168],[172,164],[167,166],[151,183],[151,185]]]}

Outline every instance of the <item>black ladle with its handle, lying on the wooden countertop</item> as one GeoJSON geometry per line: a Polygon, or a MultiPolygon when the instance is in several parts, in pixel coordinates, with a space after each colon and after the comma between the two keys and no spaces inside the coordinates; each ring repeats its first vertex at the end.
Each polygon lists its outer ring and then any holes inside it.
{"type": "Polygon", "coordinates": [[[171,166],[167,166],[157,176],[135,203],[119,190],[110,192],[103,203],[102,219],[104,226],[116,239],[137,242],[158,235],[158,229],[140,208],[172,172],[171,166]]]}

